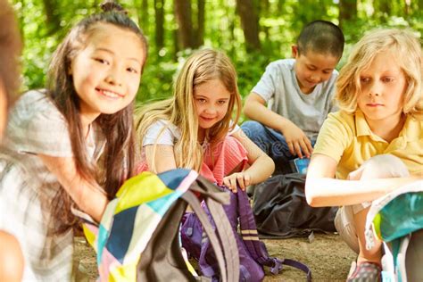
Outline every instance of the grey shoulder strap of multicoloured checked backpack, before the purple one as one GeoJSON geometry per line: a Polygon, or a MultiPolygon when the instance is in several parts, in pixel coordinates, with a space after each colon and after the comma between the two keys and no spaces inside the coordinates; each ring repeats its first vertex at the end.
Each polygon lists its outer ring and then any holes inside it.
{"type": "MultiPolygon", "coordinates": [[[[211,223],[203,211],[200,202],[193,192],[187,191],[182,198],[189,203],[195,211],[198,219],[203,225],[203,229],[209,237],[212,249],[216,254],[220,268],[220,278],[222,281],[238,281],[239,280],[239,254],[232,228],[228,221],[225,211],[221,206],[222,203],[228,203],[228,194],[221,192],[217,187],[204,181],[203,178],[197,178],[197,181],[190,187],[191,191],[200,193],[207,203],[211,216],[216,222],[216,229],[219,235],[217,238],[215,231],[211,227],[211,223]],[[216,202],[217,201],[217,202],[216,202]],[[221,247],[220,247],[220,243],[221,247]],[[223,256],[222,256],[223,253],[223,256]],[[226,267],[225,267],[226,262],[226,267]]],[[[210,273],[208,274],[210,275],[210,273]]]]}

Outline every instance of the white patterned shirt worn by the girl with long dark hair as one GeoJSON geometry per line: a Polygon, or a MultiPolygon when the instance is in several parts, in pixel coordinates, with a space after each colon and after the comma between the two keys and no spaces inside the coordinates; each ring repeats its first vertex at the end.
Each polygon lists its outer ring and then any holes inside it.
{"type": "MultiPolygon", "coordinates": [[[[87,144],[97,160],[104,138],[90,130],[87,144]]],[[[21,244],[23,281],[71,281],[73,233],[52,234],[51,202],[60,185],[37,153],[71,157],[71,139],[62,113],[45,94],[29,91],[12,109],[0,149],[0,229],[21,244]]]]}

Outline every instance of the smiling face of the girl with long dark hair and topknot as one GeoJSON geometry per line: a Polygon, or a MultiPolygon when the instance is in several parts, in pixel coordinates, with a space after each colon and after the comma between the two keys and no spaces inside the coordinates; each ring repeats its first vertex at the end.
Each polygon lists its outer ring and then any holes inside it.
{"type": "Polygon", "coordinates": [[[100,23],[71,62],[81,116],[119,112],[137,95],[145,50],[135,33],[100,23]]]}

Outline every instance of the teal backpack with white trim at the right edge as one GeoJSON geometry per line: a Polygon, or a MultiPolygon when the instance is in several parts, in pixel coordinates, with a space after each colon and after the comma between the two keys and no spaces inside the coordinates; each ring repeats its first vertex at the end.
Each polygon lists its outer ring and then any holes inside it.
{"type": "Polygon", "coordinates": [[[423,180],[395,189],[372,203],[365,231],[368,248],[374,245],[373,234],[385,246],[384,281],[421,281],[423,180]]]}

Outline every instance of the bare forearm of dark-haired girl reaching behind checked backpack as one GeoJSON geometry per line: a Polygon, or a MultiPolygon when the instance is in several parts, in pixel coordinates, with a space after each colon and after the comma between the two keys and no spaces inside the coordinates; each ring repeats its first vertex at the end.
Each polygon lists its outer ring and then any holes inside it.
{"type": "Polygon", "coordinates": [[[79,209],[87,212],[95,221],[100,222],[109,202],[102,187],[82,178],[76,170],[75,161],[69,157],[52,157],[38,154],[79,209]]]}

